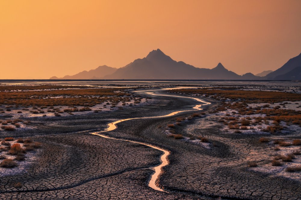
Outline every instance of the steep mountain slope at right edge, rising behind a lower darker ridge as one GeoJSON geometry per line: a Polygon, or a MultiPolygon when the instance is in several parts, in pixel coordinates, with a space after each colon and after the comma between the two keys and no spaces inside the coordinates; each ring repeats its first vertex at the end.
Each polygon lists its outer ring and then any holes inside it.
{"type": "Polygon", "coordinates": [[[301,66],[301,53],[294,57],[291,58],[287,63],[285,63],[282,67],[280,67],[278,70],[275,70],[271,73],[269,73],[267,76],[265,76],[265,79],[276,79],[277,76],[284,75],[286,73],[289,73],[296,67],[301,66]]]}

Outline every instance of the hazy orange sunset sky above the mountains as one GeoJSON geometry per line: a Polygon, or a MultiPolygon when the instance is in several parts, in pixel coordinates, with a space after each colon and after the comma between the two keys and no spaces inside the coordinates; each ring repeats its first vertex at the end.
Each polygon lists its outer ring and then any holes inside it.
{"type": "Polygon", "coordinates": [[[0,10],[0,79],[119,68],[158,48],[256,74],[301,52],[299,0],[0,0],[0,10]]]}

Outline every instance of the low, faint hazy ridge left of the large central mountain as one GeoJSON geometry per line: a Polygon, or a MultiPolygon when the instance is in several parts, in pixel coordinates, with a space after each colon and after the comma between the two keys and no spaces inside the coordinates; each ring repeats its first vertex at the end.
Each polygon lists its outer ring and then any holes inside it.
{"type": "Polygon", "coordinates": [[[117,68],[108,67],[107,65],[99,66],[95,70],[82,71],[73,76],[66,75],[63,78],[52,76],[50,79],[102,79],[104,76],[114,73],[117,68]]]}

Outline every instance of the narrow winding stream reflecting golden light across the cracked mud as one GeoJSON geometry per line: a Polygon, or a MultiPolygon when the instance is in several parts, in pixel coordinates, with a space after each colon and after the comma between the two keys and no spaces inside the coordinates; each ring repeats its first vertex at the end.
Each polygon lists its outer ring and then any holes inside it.
{"type": "MultiPolygon", "coordinates": [[[[169,88],[169,89],[171,89],[171,88],[169,88]]],[[[164,89],[160,89],[160,90],[164,90],[164,89]]],[[[157,90],[157,91],[160,91],[160,90],[157,90]]],[[[200,108],[202,105],[210,104],[209,102],[205,102],[205,101],[200,100],[200,99],[195,98],[195,97],[181,97],[181,96],[168,95],[168,94],[155,94],[154,92],[150,92],[150,91],[155,91],[155,90],[142,90],[142,91],[136,91],[136,92],[137,92],[137,93],[150,94],[150,95],[157,95],[157,96],[169,96],[169,97],[178,97],[178,98],[190,98],[190,99],[194,99],[194,100],[197,100],[198,102],[202,102],[202,103],[203,103],[203,104],[198,104],[198,105],[194,106],[194,107],[193,107],[193,110],[202,110],[202,109],[200,108]]],[[[162,154],[161,157],[160,157],[161,164],[158,165],[158,166],[155,166],[155,167],[153,168],[154,171],[155,171],[155,173],[151,176],[151,180],[149,181],[148,186],[151,187],[151,188],[153,188],[154,190],[166,192],[166,191],[162,190],[161,188],[157,187],[157,185],[156,185],[156,180],[158,179],[158,176],[159,176],[160,173],[161,173],[162,167],[168,165],[167,157],[168,157],[168,155],[170,154],[169,151],[164,150],[164,149],[159,148],[159,147],[156,147],[156,146],[154,146],[154,145],[149,145],[149,144],[143,143],[143,142],[135,142],[135,141],[132,141],[132,140],[126,140],[126,139],[117,139],[117,138],[113,138],[113,137],[109,137],[109,136],[102,135],[101,133],[104,133],[104,132],[107,132],[107,131],[111,131],[111,130],[115,130],[115,129],[117,128],[116,124],[118,124],[118,123],[120,123],[120,122],[123,122],[123,121],[128,121],[128,120],[132,120],[132,119],[145,119],[145,118],[168,117],[168,116],[176,115],[176,114],[178,114],[178,113],[180,113],[180,112],[187,112],[187,111],[193,111],[193,110],[181,110],[181,111],[175,111],[175,112],[169,113],[168,115],[161,115],[161,116],[154,116],[154,117],[138,117],[138,118],[121,119],[121,120],[114,121],[114,122],[108,124],[109,127],[108,127],[107,129],[105,129],[105,130],[103,130],[103,131],[99,131],[99,132],[94,132],[94,133],[91,133],[91,134],[97,135],[97,136],[101,136],[101,137],[103,137],[103,138],[108,138],[108,139],[115,139],[115,140],[122,140],[122,141],[127,141],[127,142],[133,142],[133,143],[145,145],[145,146],[148,146],[148,147],[151,147],[151,148],[154,148],[154,149],[163,151],[163,154],[162,154]]]]}

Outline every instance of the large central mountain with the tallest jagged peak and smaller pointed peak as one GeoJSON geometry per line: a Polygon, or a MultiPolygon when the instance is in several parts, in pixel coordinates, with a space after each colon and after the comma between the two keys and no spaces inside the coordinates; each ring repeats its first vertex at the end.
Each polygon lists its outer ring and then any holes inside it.
{"type": "Polygon", "coordinates": [[[197,68],[182,61],[174,61],[160,49],[145,58],[136,59],[107,75],[105,79],[241,79],[219,63],[213,69],[197,68]]]}

